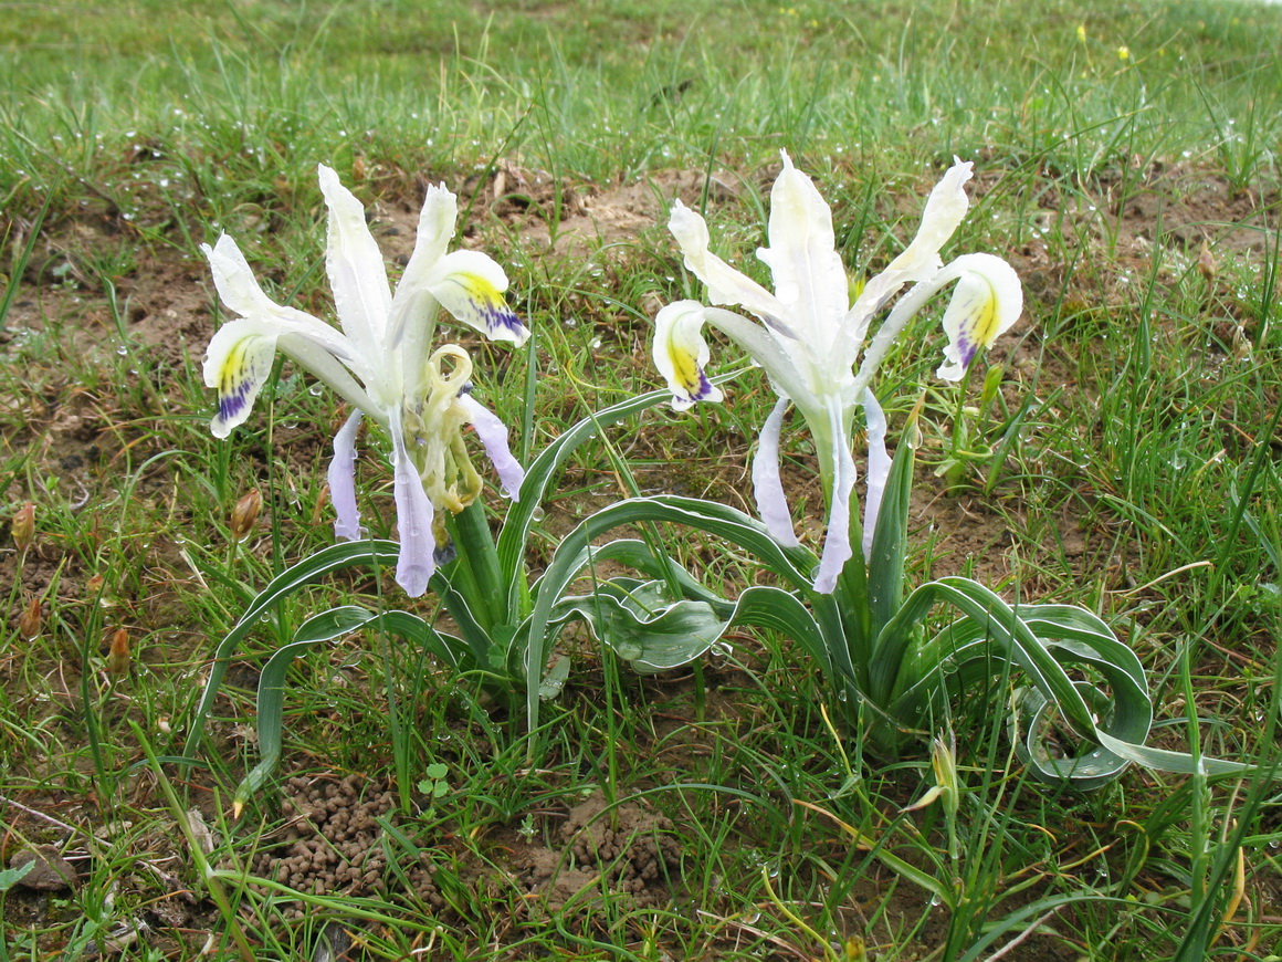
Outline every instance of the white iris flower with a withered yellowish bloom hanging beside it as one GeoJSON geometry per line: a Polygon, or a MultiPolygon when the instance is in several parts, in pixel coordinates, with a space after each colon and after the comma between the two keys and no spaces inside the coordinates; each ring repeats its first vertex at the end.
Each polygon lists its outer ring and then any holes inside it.
{"type": "Polygon", "coordinates": [[[203,245],[218,296],[237,314],[205,354],[205,385],[218,389],[210,428],[226,437],[249,417],[277,350],[329,385],[353,407],[333,440],[328,472],[335,534],[356,540],[356,430],[362,418],[376,421],[391,440],[401,540],[396,581],[417,596],[449,550],[441,509],[462,511],[481,489],[464,426],[476,428],[509,496],[524,477],[508,428],[472,398],[468,353],[454,344],[432,350],[437,312],[445,308],[491,340],[517,346],[529,331],[504,303],[508,278],[497,263],[479,251],[446,253],[458,203],[444,185],[427,190],[414,253],[392,292],[360,201],[328,167],[320,165],[319,177],[329,209],[326,269],[342,330],[268,298],[226,233],[213,248],[203,245]]]}

